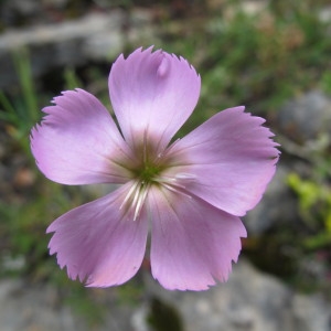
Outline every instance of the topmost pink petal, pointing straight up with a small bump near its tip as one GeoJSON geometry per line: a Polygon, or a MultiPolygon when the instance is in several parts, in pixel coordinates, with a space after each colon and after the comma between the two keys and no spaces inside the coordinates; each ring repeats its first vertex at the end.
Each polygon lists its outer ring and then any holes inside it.
{"type": "Polygon", "coordinates": [[[109,75],[114,111],[125,139],[164,148],[192,114],[201,81],[186,60],[152,47],[120,55],[109,75]]]}

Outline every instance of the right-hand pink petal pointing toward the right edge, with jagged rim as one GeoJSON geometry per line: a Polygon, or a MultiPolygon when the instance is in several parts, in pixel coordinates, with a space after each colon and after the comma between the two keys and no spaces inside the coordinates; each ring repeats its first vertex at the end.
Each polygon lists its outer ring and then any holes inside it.
{"type": "MultiPolygon", "coordinates": [[[[273,134],[244,107],[223,110],[170,148],[164,175],[188,173],[188,192],[242,216],[261,199],[278,160],[273,134]]],[[[189,193],[190,194],[190,193],[189,193]]]]}

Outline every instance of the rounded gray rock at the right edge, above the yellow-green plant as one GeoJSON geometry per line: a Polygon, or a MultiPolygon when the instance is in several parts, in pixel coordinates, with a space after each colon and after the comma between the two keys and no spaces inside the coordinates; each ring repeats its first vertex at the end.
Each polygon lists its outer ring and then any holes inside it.
{"type": "Polygon", "coordinates": [[[288,102],[277,114],[280,130],[297,142],[331,135],[331,98],[311,90],[288,102]]]}

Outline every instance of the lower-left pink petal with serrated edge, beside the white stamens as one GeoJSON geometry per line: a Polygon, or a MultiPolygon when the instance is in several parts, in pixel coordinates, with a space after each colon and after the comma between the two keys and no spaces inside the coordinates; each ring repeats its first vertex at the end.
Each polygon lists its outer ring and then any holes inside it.
{"type": "MultiPolygon", "coordinates": [[[[136,275],[146,248],[147,217],[132,221],[120,210],[128,186],[76,207],[55,220],[50,254],[68,277],[89,287],[120,285],[136,275]]],[[[143,216],[143,211],[141,211],[143,216]]]]}

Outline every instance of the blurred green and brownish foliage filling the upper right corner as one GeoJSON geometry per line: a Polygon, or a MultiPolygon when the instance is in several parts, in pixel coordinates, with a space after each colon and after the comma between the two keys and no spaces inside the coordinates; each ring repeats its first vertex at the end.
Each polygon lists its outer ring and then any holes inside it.
{"type": "Polygon", "coordinates": [[[290,96],[329,82],[330,22],[320,20],[317,4],[280,2],[247,13],[242,1],[225,1],[206,22],[177,29],[168,23],[167,50],[189,56],[203,79],[201,113],[192,124],[242,104],[271,113],[290,96]]]}

